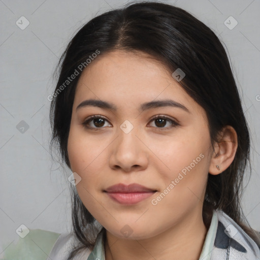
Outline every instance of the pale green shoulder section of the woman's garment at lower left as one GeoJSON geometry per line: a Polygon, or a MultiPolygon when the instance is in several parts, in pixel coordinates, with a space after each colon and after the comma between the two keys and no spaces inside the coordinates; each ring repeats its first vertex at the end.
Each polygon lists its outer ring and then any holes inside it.
{"type": "Polygon", "coordinates": [[[29,233],[24,237],[19,237],[10,244],[3,244],[4,260],[27,260],[38,259],[46,260],[54,243],[60,236],[59,233],[50,232],[40,229],[30,229],[29,233]]]}

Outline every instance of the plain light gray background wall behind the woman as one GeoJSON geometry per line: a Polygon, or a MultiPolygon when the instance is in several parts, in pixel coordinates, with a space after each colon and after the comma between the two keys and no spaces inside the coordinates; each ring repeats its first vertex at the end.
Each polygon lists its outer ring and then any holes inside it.
{"type": "MultiPolygon", "coordinates": [[[[15,231],[21,224],[29,229],[57,233],[70,230],[70,183],[66,176],[71,172],[52,163],[48,148],[50,102],[47,96],[55,87],[52,74],[69,39],[83,23],[125,3],[0,0],[0,244],[17,240],[15,231]],[[29,21],[23,30],[16,24],[21,16],[29,21]]],[[[260,1],[165,3],[181,7],[206,23],[229,51],[253,141],[252,177],[242,205],[251,226],[260,231],[260,160],[256,135],[260,129],[260,1]],[[230,16],[238,22],[233,29],[224,24],[230,16]]],[[[234,22],[231,20],[229,26],[234,22]]],[[[20,26],[24,25],[25,20],[20,21],[20,26]]]]}

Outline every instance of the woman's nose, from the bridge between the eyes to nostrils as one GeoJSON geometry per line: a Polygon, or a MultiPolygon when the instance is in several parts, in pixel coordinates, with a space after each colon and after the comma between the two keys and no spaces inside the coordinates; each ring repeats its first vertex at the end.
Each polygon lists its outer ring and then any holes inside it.
{"type": "Polygon", "coordinates": [[[110,146],[109,166],[123,172],[144,170],[148,166],[148,152],[135,127],[128,134],[119,128],[118,137],[110,146]]]}

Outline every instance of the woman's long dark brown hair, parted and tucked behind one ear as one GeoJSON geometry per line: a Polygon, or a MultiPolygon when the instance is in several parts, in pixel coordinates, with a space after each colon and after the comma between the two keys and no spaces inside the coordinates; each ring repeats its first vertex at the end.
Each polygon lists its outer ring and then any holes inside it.
{"type": "MultiPolygon", "coordinates": [[[[172,72],[181,68],[186,76],[179,83],[206,111],[212,145],[222,127],[231,125],[235,128],[238,137],[235,158],[221,174],[209,174],[203,219],[208,226],[212,209],[222,210],[259,244],[249,224],[244,224],[246,219],[240,206],[247,166],[251,173],[248,126],[228,56],[218,37],[181,8],[158,2],[128,4],[93,18],[77,32],[60,58],[55,91],[96,50],[102,55],[116,49],[149,54],[172,72]]],[[[80,75],[81,72],[53,97],[50,109],[51,147],[54,143],[57,145],[61,159],[69,168],[67,144],[80,75]]],[[[84,207],[75,186],[71,191],[73,232],[80,245],[68,259],[72,259],[81,248],[92,249],[95,241],[95,219],[84,207]]]]}

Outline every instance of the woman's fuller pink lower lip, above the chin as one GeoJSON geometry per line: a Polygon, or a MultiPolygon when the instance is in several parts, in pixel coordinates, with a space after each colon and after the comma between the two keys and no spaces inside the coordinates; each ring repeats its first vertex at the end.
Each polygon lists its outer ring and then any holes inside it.
{"type": "Polygon", "coordinates": [[[108,196],[114,201],[120,204],[136,204],[140,201],[143,201],[155,192],[133,192],[133,193],[119,193],[119,192],[106,192],[108,196]]]}

